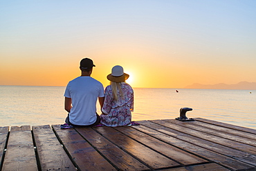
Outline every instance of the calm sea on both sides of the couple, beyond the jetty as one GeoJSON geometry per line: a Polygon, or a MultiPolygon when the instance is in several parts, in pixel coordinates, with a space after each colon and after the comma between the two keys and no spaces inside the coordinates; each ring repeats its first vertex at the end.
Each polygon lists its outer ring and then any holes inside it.
{"type": "MultiPolygon", "coordinates": [[[[0,126],[64,123],[65,87],[0,86],[0,126]]],[[[256,129],[256,90],[134,88],[132,120],[201,117],[256,129]]],[[[98,105],[98,113],[100,108],[98,105]]]]}

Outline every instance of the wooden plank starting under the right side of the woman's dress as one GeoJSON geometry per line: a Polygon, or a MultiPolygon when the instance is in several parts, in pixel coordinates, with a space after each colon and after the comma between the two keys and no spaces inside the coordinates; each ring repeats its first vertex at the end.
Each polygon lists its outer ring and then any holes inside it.
{"type": "Polygon", "coordinates": [[[150,137],[149,135],[138,130],[135,130],[134,128],[118,127],[115,129],[118,130],[119,132],[122,132],[123,134],[126,134],[132,139],[135,139],[136,141],[139,141],[140,143],[147,145],[149,148],[152,148],[158,151],[159,153],[164,154],[167,157],[170,157],[171,159],[173,159],[177,163],[181,163],[182,165],[192,165],[196,163],[198,164],[208,162],[205,159],[196,157],[193,154],[180,150],[179,148],[176,148],[163,141],[160,141],[154,137],[150,137]]]}

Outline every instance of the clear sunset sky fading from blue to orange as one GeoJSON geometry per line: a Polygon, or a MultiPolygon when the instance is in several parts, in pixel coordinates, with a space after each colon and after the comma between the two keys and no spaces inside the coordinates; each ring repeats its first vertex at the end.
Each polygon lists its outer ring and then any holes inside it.
{"type": "Polygon", "coordinates": [[[109,85],[256,82],[256,1],[0,0],[0,85],[66,86],[88,57],[109,85]]]}

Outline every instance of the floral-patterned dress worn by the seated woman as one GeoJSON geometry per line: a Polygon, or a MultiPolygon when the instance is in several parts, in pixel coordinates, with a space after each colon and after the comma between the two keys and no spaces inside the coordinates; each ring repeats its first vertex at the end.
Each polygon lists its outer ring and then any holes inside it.
{"type": "Polygon", "coordinates": [[[131,112],[134,111],[134,90],[128,83],[121,83],[123,98],[120,97],[118,91],[118,101],[113,99],[113,92],[111,86],[105,89],[104,105],[100,115],[100,123],[116,127],[131,124],[131,112]]]}

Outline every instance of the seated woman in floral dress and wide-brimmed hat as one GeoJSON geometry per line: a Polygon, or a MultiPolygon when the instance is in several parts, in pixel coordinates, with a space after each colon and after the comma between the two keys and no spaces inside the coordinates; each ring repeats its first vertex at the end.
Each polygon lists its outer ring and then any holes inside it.
{"type": "Polygon", "coordinates": [[[125,80],[129,74],[125,74],[122,66],[114,66],[107,79],[111,84],[105,89],[105,99],[100,115],[100,123],[106,126],[116,127],[131,125],[131,112],[134,111],[134,90],[125,80]]]}

